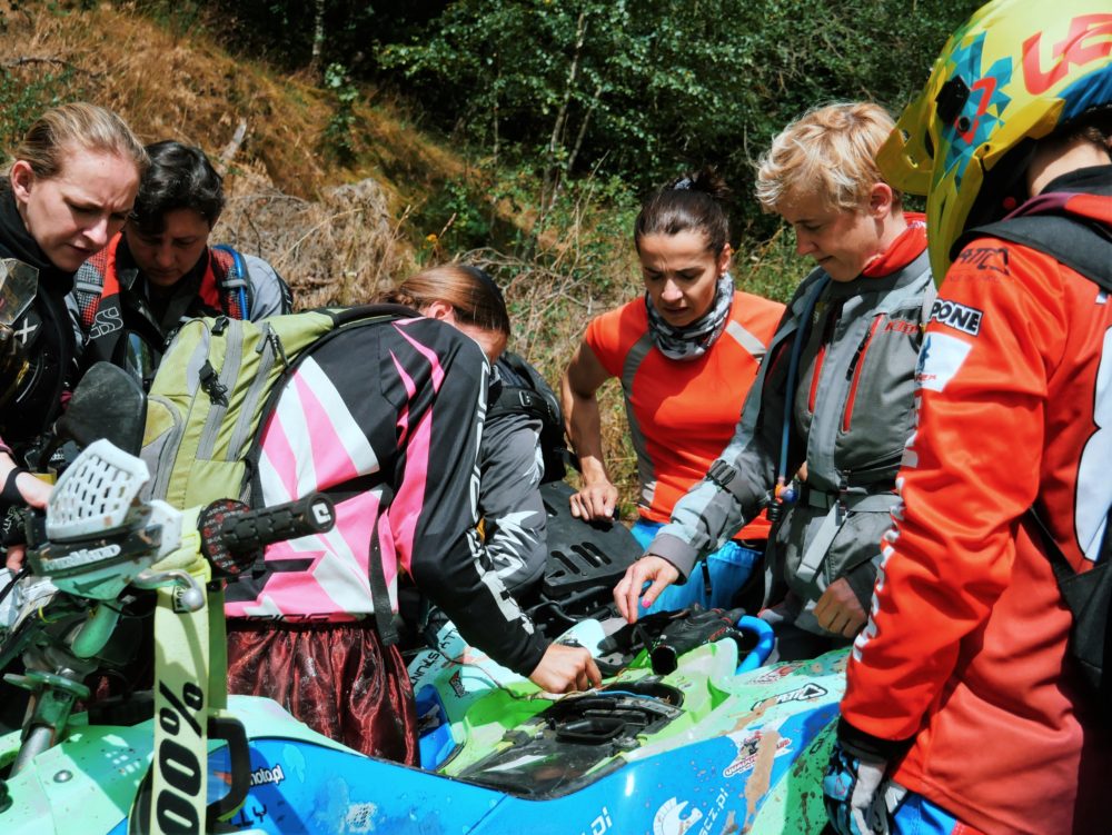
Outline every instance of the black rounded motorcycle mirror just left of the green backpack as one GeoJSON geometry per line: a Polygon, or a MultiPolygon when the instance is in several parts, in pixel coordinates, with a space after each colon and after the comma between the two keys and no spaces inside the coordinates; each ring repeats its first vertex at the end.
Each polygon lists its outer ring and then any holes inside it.
{"type": "Polygon", "coordinates": [[[147,397],[130,374],[111,362],[97,362],[81,378],[54,430],[61,440],[87,447],[99,438],[131,455],[142,448],[147,397]]]}

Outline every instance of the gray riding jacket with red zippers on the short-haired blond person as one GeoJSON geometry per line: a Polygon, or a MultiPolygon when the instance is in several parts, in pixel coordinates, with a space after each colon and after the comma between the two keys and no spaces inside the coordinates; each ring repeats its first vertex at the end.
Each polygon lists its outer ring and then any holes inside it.
{"type": "MultiPolygon", "coordinates": [[[[796,384],[787,433],[788,480],[806,463],[806,483],[768,543],[773,583],[810,615],[845,577],[867,609],[891,524],[895,476],[913,426],[915,366],[934,299],[926,252],[883,277],[837,282],[822,269],[800,285],[746,398],[733,440],[707,476],[676,504],[648,551],[683,577],[765,506],[776,483],[785,395],[796,334],[796,384]],[[782,590],[782,589],[781,589],[782,590]]],[[[782,599],[768,592],[768,603],[782,599]]]]}

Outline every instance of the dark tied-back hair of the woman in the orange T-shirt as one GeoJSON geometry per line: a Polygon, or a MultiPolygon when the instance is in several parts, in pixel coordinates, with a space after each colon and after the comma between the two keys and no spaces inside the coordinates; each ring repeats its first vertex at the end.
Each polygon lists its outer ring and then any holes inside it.
{"type": "Polygon", "coordinates": [[[702,232],[707,250],[717,256],[729,240],[729,219],[722,205],[727,197],[729,189],[713,168],[677,177],[642,203],[634,243],[639,248],[646,235],[702,232]]]}

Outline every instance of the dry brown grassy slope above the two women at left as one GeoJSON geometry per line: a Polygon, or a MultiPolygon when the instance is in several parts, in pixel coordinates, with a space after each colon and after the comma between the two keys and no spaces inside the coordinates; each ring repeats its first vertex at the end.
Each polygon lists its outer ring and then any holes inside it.
{"type": "Polygon", "coordinates": [[[24,83],[64,71],[59,101],[83,98],[128,120],[143,141],[177,139],[225,160],[228,208],[214,240],[271,261],[299,308],[353,304],[408,275],[408,207],[464,166],[406,126],[390,102],[356,108],[357,163],[324,152],[328,93],[229,56],[203,33],[178,36],[128,8],[60,13],[0,4],[9,30],[0,64],[24,83]],[[107,46],[106,46],[107,44],[107,46]],[[242,138],[235,141],[244,123],[242,138]],[[385,171],[404,176],[404,188],[385,171]],[[342,185],[335,185],[342,183],[342,185]]]}

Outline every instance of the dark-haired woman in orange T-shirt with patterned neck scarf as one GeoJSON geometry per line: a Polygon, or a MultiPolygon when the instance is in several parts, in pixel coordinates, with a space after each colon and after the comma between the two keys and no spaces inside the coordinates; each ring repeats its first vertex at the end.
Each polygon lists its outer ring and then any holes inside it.
{"type": "MultiPolygon", "coordinates": [[[[618,491],[603,463],[595,392],[610,377],[622,381],[641,480],[633,534],[642,546],[729,441],[784,312],[783,305],[734,288],[726,193],[721,178],[703,170],[645,201],[634,227],[645,296],[587,326],[562,380],[583,471],[572,513],[584,519],[614,514],[618,491]]],[[[754,520],[711,555],[706,581],[669,590],[654,610],[728,605],[767,537],[767,520],[754,520]]]]}

